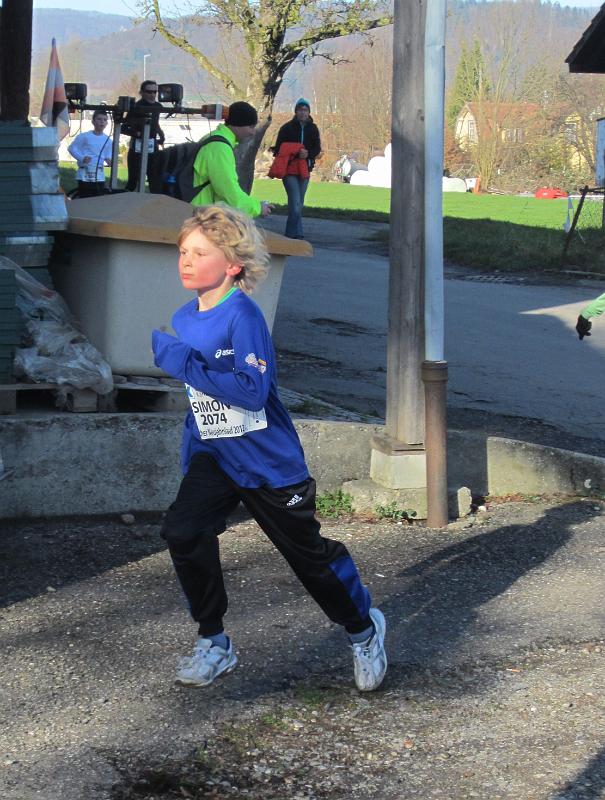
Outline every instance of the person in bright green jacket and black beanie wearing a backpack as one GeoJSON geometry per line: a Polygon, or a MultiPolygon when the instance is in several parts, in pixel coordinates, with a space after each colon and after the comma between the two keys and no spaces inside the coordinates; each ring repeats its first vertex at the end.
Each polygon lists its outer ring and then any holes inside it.
{"type": "Polygon", "coordinates": [[[272,208],[269,203],[250,197],[241,188],[235,165],[235,148],[254,134],[257,123],[256,109],[240,100],[229,106],[226,123],[200,140],[203,142],[212,136],[223,141],[211,141],[197,154],[193,164],[193,185],[203,188],[191,201],[192,205],[224,203],[251,217],[269,216],[272,208]]]}

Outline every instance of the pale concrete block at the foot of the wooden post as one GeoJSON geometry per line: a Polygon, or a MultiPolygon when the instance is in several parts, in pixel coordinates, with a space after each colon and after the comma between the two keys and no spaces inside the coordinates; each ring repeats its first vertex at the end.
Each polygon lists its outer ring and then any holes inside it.
{"type": "Polygon", "coordinates": [[[374,436],[370,478],[386,489],[426,489],[426,453],[390,436],[374,436]]]}

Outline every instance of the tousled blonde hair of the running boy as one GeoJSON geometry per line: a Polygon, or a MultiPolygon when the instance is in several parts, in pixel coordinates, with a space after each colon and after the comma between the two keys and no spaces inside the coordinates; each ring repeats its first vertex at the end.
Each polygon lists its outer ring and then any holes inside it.
{"type": "Polygon", "coordinates": [[[250,294],[267,277],[269,253],[252,219],[241,211],[227,206],[200,206],[193,216],[183,222],[177,244],[193,231],[200,231],[219,250],[230,264],[241,265],[234,283],[250,294]]]}

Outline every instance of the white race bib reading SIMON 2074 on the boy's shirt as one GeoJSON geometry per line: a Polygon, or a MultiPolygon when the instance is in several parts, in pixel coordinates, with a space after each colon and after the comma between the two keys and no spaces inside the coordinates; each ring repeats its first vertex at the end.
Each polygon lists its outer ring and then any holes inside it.
{"type": "Polygon", "coordinates": [[[243,436],[250,431],[260,431],[267,427],[264,408],[260,411],[248,411],[246,408],[221,403],[187,383],[185,388],[202,441],[243,436]]]}

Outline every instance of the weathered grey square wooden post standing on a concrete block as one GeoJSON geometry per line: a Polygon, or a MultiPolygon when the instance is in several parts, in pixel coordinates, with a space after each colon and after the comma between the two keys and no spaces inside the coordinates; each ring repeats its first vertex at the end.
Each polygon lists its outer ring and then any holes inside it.
{"type": "Polygon", "coordinates": [[[386,432],[424,442],[424,0],[395,0],[386,432]]]}

